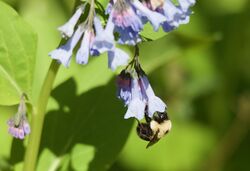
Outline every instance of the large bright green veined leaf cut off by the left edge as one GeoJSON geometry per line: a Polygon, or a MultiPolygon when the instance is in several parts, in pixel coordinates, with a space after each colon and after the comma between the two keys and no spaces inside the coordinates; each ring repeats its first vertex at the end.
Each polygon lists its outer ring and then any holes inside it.
{"type": "Polygon", "coordinates": [[[36,55],[36,35],[8,5],[0,2],[0,105],[30,96],[36,55]]]}

